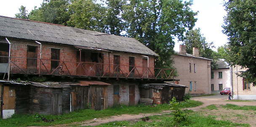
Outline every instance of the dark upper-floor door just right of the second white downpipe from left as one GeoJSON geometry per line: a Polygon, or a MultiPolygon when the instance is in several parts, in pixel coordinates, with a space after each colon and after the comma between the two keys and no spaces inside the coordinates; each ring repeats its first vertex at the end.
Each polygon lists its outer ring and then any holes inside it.
{"type": "MultiPolygon", "coordinates": [[[[51,60],[59,60],[60,50],[51,48],[51,60]]],[[[59,61],[51,61],[51,72],[59,66],[59,61]]],[[[53,74],[59,74],[59,69],[53,72],[53,74]]]]}

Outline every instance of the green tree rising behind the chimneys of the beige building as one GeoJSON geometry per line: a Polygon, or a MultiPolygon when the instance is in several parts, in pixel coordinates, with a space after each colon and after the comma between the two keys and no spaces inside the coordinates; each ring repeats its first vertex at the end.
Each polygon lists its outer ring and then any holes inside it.
{"type": "Polygon", "coordinates": [[[198,48],[199,56],[204,58],[212,58],[214,48],[213,42],[210,44],[205,41],[205,37],[200,33],[200,28],[191,29],[186,32],[184,44],[186,45],[186,51],[189,54],[193,53],[193,47],[198,48]]]}

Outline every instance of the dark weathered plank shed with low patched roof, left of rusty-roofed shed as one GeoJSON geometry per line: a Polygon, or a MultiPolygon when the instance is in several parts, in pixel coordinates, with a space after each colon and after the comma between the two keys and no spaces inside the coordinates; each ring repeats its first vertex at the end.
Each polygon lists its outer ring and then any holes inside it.
{"type": "Polygon", "coordinates": [[[60,82],[32,82],[29,112],[59,115],[70,112],[71,87],[60,82]]]}

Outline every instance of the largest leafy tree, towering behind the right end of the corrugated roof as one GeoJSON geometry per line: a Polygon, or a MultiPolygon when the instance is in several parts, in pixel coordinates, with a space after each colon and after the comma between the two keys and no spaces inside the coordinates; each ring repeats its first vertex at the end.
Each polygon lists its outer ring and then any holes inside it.
{"type": "Polygon", "coordinates": [[[147,45],[160,57],[156,67],[170,66],[174,37],[184,39],[184,32],[195,25],[195,15],[189,7],[192,1],[182,0],[130,0],[124,5],[123,20],[128,37],[147,45]]]}

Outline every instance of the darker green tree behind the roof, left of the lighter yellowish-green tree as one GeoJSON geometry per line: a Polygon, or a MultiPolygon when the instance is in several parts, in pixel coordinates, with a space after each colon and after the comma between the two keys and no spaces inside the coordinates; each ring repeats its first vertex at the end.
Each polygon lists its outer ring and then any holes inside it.
{"type": "Polygon", "coordinates": [[[29,13],[29,19],[52,24],[67,25],[69,0],[43,0],[41,7],[29,13]]]}

